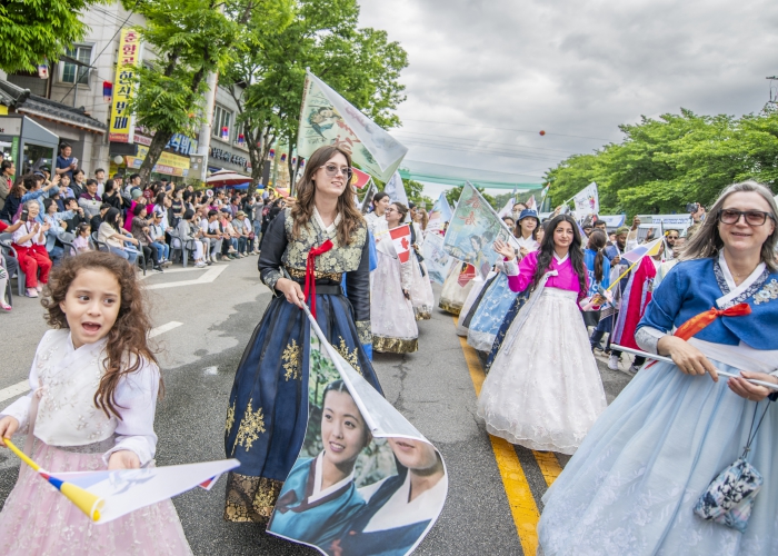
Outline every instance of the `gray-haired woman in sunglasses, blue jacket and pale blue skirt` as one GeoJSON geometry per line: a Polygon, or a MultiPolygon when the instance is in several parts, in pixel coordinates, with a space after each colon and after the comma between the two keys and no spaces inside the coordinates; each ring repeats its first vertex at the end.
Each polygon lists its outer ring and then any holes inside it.
{"type": "Polygon", "coordinates": [[[543,496],[546,556],[775,553],[776,390],[747,379],[778,385],[777,214],[767,187],[728,187],[655,289],[636,339],[672,361],[637,374],[543,496]],[[754,506],[705,519],[717,498],[704,494],[749,437],[764,478],[754,506]]]}

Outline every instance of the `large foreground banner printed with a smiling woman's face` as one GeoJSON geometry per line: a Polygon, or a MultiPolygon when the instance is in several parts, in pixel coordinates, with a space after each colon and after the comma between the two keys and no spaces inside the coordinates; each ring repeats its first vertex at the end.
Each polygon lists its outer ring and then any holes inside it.
{"type": "Polygon", "coordinates": [[[442,458],[418,433],[417,438],[387,435],[392,428],[415,429],[388,403],[360,396],[365,386],[372,387],[353,367],[341,373],[338,366],[348,364],[330,358],[313,330],[311,338],[306,438],[268,532],[322,554],[408,554],[446,500],[442,458]],[[415,474],[426,477],[419,492],[411,487],[415,474]]]}

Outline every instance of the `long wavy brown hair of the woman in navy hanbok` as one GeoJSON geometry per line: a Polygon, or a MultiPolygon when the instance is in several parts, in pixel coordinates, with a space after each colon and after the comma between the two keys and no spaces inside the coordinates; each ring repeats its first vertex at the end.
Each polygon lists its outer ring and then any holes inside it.
{"type": "MultiPolygon", "coordinates": [[[[351,166],[351,155],[339,147],[326,146],[316,149],[306,165],[306,172],[300,178],[297,185],[297,202],[292,207],[292,236],[300,237],[300,228],[308,226],[313,217],[313,197],[316,196],[316,183],[313,183],[313,175],[325,166],[336,155],[346,157],[346,163],[351,166]]],[[[338,214],[340,215],[340,224],[338,224],[338,242],[341,246],[351,244],[351,236],[355,230],[365,221],[362,212],[353,202],[353,190],[351,183],[347,182],[343,192],[338,197],[338,214]]]]}

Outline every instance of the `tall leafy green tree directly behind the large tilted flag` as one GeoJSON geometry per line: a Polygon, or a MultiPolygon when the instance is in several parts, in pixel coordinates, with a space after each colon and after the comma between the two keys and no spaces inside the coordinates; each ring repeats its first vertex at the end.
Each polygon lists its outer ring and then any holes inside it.
{"type": "MultiPolygon", "coordinates": [[[[358,17],[356,0],[299,0],[281,31],[247,30],[250,47],[241,51],[222,83],[241,86],[232,88],[238,121],[257,133],[247,136],[251,188],[277,139],[297,145],[306,68],[379,126],[399,125],[392,110],[405,100],[398,78],[408,63],[406,52],[385,31],[359,29],[358,17]]],[[[287,163],[293,176],[292,157],[287,163]]]]}

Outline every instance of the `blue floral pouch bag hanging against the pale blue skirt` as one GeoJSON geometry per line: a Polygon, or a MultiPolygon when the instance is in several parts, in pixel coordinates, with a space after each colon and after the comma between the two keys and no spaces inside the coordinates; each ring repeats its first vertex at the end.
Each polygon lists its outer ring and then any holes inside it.
{"type": "Polygon", "coordinates": [[[770,396],[756,430],[754,429],[754,423],[756,421],[759,404],[755,405],[748,441],[742,455],[710,481],[695,506],[695,514],[698,517],[716,522],[740,533],[745,533],[748,528],[748,518],[751,516],[754,502],[765,479],[746,458],[772,399],[774,397],[770,396]]]}

